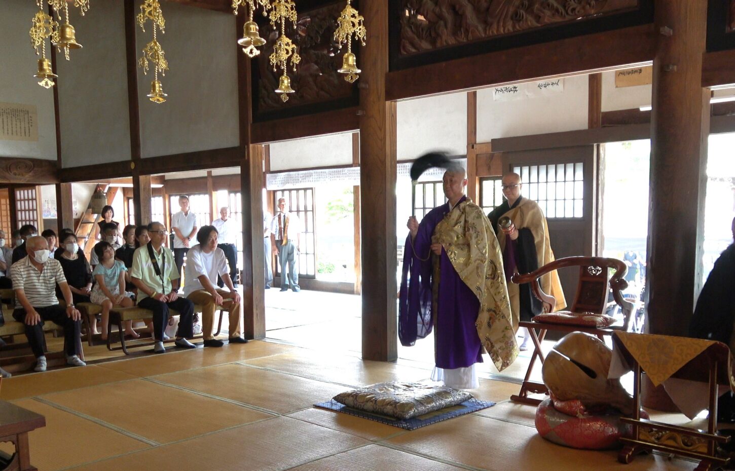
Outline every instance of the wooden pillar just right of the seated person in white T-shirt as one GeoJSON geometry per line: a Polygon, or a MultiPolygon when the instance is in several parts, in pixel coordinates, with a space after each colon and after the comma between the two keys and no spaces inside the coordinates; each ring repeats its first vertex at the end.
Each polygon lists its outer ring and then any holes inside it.
{"type": "MultiPolygon", "coordinates": [[[[237,15],[238,36],[245,15],[237,15]]],[[[235,38],[233,38],[234,40],[235,38]]],[[[265,273],[263,253],[263,147],[252,144],[251,60],[237,51],[238,109],[240,119],[240,194],[243,198],[243,334],[265,337],[265,273]]]]}

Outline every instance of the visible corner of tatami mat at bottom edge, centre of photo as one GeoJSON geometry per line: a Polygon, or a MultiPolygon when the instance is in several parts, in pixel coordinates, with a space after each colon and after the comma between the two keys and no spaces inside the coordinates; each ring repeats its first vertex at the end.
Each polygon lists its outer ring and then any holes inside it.
{"type": "Polygon", "coordinates": [[[432,461],[421,456],[392,450],[380,445],[369,445],[356,450],[328,456],[291,471],[460,471],[463,468],[432,461]]]}

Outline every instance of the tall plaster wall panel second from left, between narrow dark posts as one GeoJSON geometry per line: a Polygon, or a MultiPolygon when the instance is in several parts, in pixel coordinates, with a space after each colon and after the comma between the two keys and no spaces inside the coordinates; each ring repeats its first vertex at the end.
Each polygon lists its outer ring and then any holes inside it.
{"type": "Polygon", "coordinates": [[[130,159],[123,2],[95,0],[85,16],[69,8],[83,48],[58,54],[62,166],[130,159]]]}

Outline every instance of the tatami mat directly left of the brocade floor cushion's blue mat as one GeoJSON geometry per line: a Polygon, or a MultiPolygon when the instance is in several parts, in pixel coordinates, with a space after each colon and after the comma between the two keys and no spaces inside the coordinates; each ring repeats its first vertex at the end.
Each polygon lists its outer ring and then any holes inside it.
{"type": "Polygon", "coordinates": [[[259,370],[242,364],[223,364],[182,371],[160,375],[156,379],[280,414],[309,408],[314,403],[345,390],[345,386],[259,370]]]}

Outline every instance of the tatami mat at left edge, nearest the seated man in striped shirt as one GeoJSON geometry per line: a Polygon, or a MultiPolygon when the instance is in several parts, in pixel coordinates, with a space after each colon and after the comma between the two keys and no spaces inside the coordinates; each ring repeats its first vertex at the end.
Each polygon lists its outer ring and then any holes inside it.
{"type": "Polygon", "coordinates": [[[86,367],[68,367],[46,373],[13,375],[3,380],[0,399],[13,400],[38,396],[49,392],[66,391],[97,384],[114,383],[133,379],[135,376],[121,371],[108,370],[96,365],[86,367]]]}

